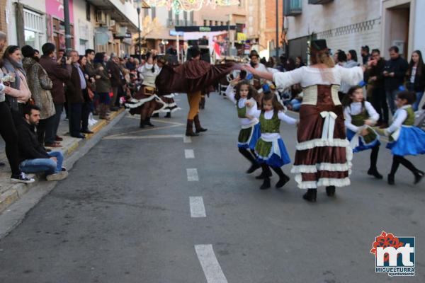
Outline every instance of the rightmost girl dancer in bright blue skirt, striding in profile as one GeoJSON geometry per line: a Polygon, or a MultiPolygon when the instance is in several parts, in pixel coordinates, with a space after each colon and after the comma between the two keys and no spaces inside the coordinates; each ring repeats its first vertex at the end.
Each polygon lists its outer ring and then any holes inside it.
{"type": "Polygon", "coordinates": [[[388,174],[388,184],[394,185],[394,176],[399,164],[412,171],[414,175],[414,184],[424,177],[424,172],[420,171],[408,161],[404,156],[425,154],[425,132],[414,127],[414,111],[412,103],[416,100],[414,93],[401,91],[397,93],[395,104],[397,111],[393,117],[392,124],[387,129],[380,129],[379,132],[390,136],[390,142],[387,149],[391,149],[392,166],[388,174]]]}

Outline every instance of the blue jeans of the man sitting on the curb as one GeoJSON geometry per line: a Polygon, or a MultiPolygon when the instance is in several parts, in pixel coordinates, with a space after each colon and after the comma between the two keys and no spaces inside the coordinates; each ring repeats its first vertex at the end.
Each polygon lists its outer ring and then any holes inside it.
{"type": "Polygon", "coordinates": [[[64,155],[61,151],[52,151],[48,153],[51,157],[56,157],[57,162],[50,158],[26,159],[21,162],[19,168],[23,173],[45,172],[47,175],[59,173],[62,171],[62,162],[64,155]]]}

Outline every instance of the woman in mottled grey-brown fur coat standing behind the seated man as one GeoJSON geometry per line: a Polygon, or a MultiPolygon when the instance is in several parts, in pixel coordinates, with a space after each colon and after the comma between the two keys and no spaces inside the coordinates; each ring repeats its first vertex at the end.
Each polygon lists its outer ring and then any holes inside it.
{"type": "Polygon", "coordinates": [[[38,57],[35,56],[33,47],[26,45],[22,47],[23,60],[22,65],[27,74],[28,87],[31,91],[35,105],[40,108],[40,122],[37,127],[38,141],[40,144],[47,144],[45,141],[45,131],[49,124],[53,123],[51,118],[55,115],[55,105],[53,104],[52,80],[47,75],[45,69],[38,63],[38,57]]]}

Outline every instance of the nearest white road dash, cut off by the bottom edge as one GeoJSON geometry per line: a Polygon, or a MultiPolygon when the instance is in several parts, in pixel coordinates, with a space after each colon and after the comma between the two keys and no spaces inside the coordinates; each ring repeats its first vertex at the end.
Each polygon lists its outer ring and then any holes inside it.
{"type": "Polygon", "coordinates": [[[212,245],[196,245],[196,254],[208,283],[227,283],[212,245]]]}

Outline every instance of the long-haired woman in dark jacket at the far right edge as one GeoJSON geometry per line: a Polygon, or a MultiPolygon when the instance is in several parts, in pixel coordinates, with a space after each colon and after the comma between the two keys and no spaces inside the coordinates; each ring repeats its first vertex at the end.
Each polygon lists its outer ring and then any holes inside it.
{"type": "Polygon", "coordinates": [[[412,108],[417,111],[425,90],[425,64],[422,53],[419,50],[415,50],[412,53],[406,81],[407,89],[416,93],[416,101],[413,103],[412,108]]]}

